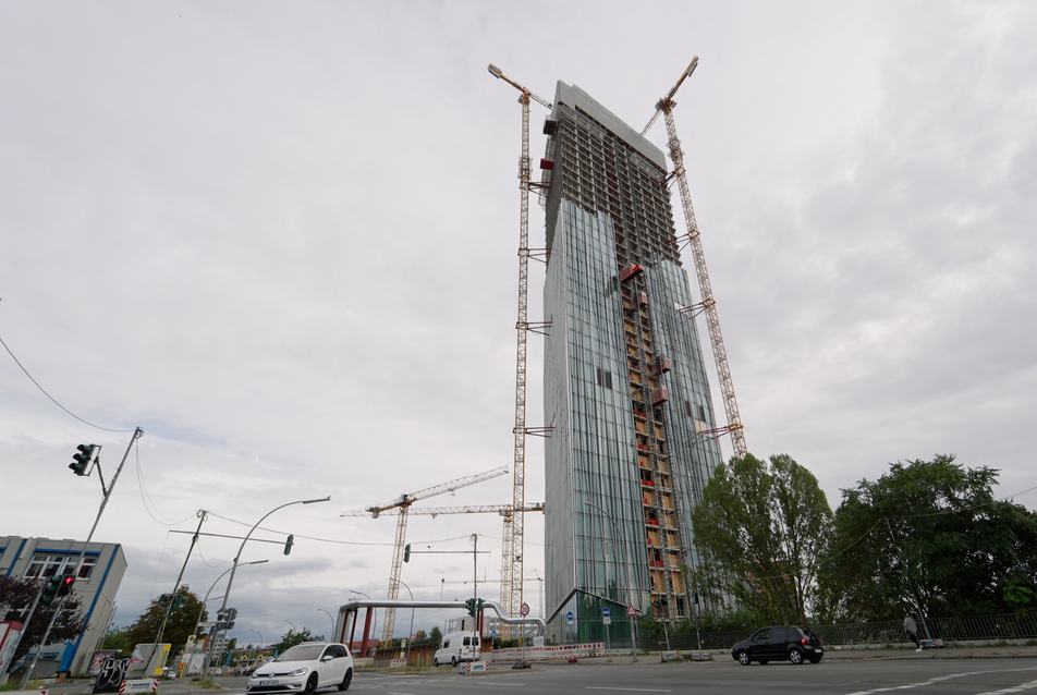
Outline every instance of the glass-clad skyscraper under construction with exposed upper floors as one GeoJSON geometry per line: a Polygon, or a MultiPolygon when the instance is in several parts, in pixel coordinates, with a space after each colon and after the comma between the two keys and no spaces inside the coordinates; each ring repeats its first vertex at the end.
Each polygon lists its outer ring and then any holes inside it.
{"type": "Polygon", "coordinates": [[[577,641],[609,608],[615,639],[627,605],[694,613],[691,510],[721,454],[662,151],[562,82],[545,134],[547,602],[577,641]]]}

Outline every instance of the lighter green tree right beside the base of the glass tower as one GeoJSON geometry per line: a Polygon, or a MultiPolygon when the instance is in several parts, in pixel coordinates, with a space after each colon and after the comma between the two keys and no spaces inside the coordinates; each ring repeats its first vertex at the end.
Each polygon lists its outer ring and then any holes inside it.
{"type": "Polygon", "coordinates": [[[732,456],[706,484],[692,523],[701,560],[688,580],[707,605],[730,596],[756,622],[806,621],[832,524],[809,471],[785,454],[732,456]]]}

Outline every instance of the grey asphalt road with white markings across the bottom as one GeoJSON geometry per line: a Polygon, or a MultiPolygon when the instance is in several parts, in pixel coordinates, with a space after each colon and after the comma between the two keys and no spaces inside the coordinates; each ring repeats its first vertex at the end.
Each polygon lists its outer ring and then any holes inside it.
{"type": "MultiPolygon", "coordinates": [[[[705,663],[613,666],[538,664],[487,675],[457,675],[449,667],[425,673],[358,671],[350,692],[385,695],[525,693],[527,695],[608,695],[621,693],[695,693],[696,695],[1037,695],[1037,658],[826,660],[818,664],[741,666],[734,660],[705,663]]],[[[245,679],[218,679],[228,695],[245,691],[245,679]]],[[[162,695],[184,695],[163,683],[162,695]]],[[[322,691],[335,695],[338,691],[322,691]]]]}

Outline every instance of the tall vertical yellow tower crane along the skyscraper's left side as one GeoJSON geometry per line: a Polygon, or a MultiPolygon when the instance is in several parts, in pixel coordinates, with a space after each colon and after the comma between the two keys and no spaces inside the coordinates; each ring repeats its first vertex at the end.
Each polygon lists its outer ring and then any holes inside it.
{"type": "MultiPolygon", "coordinates": [[[[520,221],[518,221],[518,350],[515,365],[515,460],[512,509],[515,513],[504,516],[503,547],[501,548],[500,602],[508,614],[517,614],[522,606],[522,557],[524,545],[523,510],[525,509],[525,463],[526,435],[544,435],[546,430],[526,427],[526,334],[536,330],[529,324],[527,315],[529,289],[529,101],[530,99],[548,109],[550,102],[533,94],[527,87],[504,75],[492,63],[487,68],[498,80],[503,80],[521,93],[522,105],[522,158],[518,160],[520,221]]],[[[511,634],[512,627],[505,627],[511,634]]]]}

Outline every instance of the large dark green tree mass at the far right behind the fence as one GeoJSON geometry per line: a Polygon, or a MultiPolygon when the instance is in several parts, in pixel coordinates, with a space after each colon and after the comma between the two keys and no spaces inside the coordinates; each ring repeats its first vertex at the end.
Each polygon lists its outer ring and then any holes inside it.
{"type": "Polygon", "coordinates": [[[996,481],[938,455],[843,490],[823,582],[831,618],[902,619],[915,594],[934,617],[1033,607],[1037,515],[996,500],[996,481]]]}

